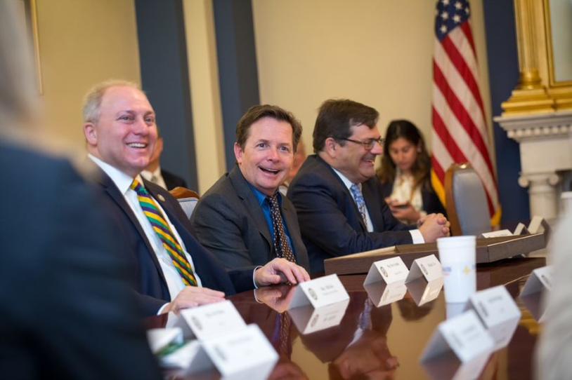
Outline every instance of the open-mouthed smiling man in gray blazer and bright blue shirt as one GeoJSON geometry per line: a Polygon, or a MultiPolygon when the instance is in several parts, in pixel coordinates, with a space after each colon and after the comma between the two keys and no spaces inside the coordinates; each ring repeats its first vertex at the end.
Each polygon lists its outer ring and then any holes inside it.
{"type": "Polygon", "coordinates": [[[227,269],[255,268],[278,257],[309,278],[296,210],[278,191],[300,135],[299,121],[280,107],[251,107],[238,122],[237,165],[202,196],[190,219],[196,238],[227,269]]]}

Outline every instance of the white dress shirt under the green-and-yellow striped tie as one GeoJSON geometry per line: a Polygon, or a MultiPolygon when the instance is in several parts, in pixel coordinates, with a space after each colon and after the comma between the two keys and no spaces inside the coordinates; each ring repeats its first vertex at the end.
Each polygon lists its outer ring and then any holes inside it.
{"type": "MultiPolygon", "coordinates": [[[[111,178],[115,186],[117,186],[117,189],[119,189],[119,192],[123,194],[123,197],[125,198],[125,201],[129,205],[129,207],[137,217],[139,224],[141,224],[141,227],[145,232],[145,236],[149,240],[149,243],[151,244],[151,247],[153,248],[155,255],[157,255],[157,261],[161,266],[161,270],[163,271],[165,280],[167,280],[167,287],[169,288],[169,294],[171,294],[171,301],[172,301],[177,296],[177,294],[186,287],[186,285],[185,283],[183,283],[181,275],[175,269],[173,260],[167,253],[167,250],[163,247],[161,239],[159,238],[159,236],[157,236],[157,233],[155,233],[155,231],[153,230],[151,223],[149,222],[149,219],[147,219],[147,217],[143,213],[143,209],[141,208],[141,205],[139,204],[137,198],[137,193],[135,192],[135,190],[130,189],[131,183],[133,182],[133,178],[131,178],[131,176],[129,175],[126,175],[124,172],[117,170],[108,163],[101,161],[97,157],[92,156],[91,154],[89,154],[89,158],[91,158],[91,160],[94,163],[96,163],[101,168],[101,170],[103,170],[105,174],[107,174],[111,178]]],[[[136,179],[138,180],[139,183],[141,183],[141,186],[143,186],[143,180],[141,179],[141,176],[138,175],[136,179]]],[[[177,242],[183,248],[183,252],[185,253],[185,256],[191,268],[193,268],[193,272],[195,273],[195,278],[197,279],[197,286],[202,286],[199,275],[195,271],[193,258],[190,257],[190,255],[188,254],[185,247],[185,243],[183,243],[181,236],[178,235],[177,230],[175,229],[173,224],[171,224],[171,221],[169,220],[167,213],[164,212],[160,203],[157,200],[155,200],[155,203],[157,204],[157,208],[159,208],[163,213],[163,217],[165,218],[165,220],[167,220],[167,223],[171,228],[171,232],[174,234],[177,242]]]]}

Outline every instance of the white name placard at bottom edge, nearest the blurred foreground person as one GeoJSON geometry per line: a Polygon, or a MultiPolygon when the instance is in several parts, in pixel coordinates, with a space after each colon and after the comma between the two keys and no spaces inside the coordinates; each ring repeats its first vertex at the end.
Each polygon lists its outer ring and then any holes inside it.
{"type": "Polygon", "coordinates": [[[278,354],[257,325],[201,342],[224,379],[267,379],[278,354]]]}

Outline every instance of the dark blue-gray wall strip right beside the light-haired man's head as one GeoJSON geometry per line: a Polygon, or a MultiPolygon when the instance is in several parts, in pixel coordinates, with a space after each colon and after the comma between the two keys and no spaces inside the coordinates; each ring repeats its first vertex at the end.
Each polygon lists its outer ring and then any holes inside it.
{"type": "Polygon", "coordinates": [[[164,139],[161,166],[198,189],[181,0],[136,0],[141,84],[164,139]]]}

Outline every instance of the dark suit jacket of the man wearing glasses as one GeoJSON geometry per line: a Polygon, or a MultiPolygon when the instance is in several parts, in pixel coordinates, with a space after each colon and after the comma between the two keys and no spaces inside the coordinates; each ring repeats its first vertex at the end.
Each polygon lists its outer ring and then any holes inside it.
{"type": "Polygon", "coordinates": [[[412,243],[410,227],[391,215],[377,177],[362,184],[374,232],[368,232],[342,179],[322,158],[312,155],[288,188],[298,212],[312,273],[324,270],[324,259],[412,243]]]}

